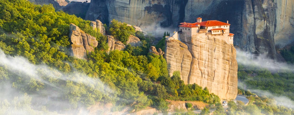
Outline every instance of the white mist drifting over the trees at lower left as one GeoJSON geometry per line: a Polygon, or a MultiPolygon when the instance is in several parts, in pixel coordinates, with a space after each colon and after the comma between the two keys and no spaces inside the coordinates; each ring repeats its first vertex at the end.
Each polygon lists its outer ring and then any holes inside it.
{"type": "MultiPolygon", "coordinates": [[[[3,67],[10,73],[21,77],[21,79],[31,80],[31,78],[34,78],[37,82],[50,86],[45,87],[46,90],[49,91],[40,90],[26,94],[19,90],[25,86],[14,88],[15,86],[13,83],[0,82],[0,92],[2,92],[0,93],[0,114],[44,114],[44,111],[48,111],[46,108],[54,108],[56,112],[62,114],[88,114],[89,111],[84,106],[78,106],[76,111],[69,111],[70,108],[68,108],[68,106],[70,103],[69,101],[63,99],[64,94],[62,94],[62,92],[66,92],[67,89],[51,83],[50,80],[82,84],[99,91],[103,94],[103,96],[114,99],[116,98],[114,96],[116,92],[98,78],[91,78],[77,71],[71,71],[68,74],[64,74],[63,72],[44,64],[31,64],[27,59],[21,56],[6,55],[1,49],[0,60],[0,67],[3,67]]],[[[1,77],[0,80],[5,76],[1,77]]],[[[100,108],[99,111],[101,113],[107,113],[104,108],[100,108]]]]}

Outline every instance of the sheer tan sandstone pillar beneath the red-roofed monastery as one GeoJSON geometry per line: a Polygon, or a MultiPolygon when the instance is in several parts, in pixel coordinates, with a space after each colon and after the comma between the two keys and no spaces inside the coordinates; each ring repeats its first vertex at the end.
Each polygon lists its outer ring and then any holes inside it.
{"type": "Polygon", "coordinates": [[[207,87],[220,99],[237,95],[236,49],[223,39],[197,34],[192,38],[180,35],[181,41],[166,42],[165,58],[170,75],[180,71],[185,84],[207,87]]]}

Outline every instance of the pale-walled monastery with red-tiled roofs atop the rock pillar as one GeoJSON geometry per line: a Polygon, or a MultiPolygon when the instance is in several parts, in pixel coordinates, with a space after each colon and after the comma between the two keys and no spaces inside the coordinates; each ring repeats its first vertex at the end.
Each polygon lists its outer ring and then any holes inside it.
{"type": "Polygon", "coordinates": [[[193,35],[205,34],[207,37],[223,39],[233,45],[234,34],[230,33],[228,21],[227,23],[217,20],[202,21],[202,18],[198,17],[195,23],[182,22],[180,24],[180,31],[175,31],[172,36],[166,36],[166,40],[177,39],[181,41],[181,36],[191,38],[193,35]]]}

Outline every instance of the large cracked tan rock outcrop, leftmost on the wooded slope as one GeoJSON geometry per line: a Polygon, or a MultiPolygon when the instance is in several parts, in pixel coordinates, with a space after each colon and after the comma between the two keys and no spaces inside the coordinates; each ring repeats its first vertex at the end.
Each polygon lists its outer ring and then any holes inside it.
{"type": "Polygon", "coordinates": [[[71,56],[87,59],[87,52],[94,51],[94,47],[98,46],[98,41],[74,24],[71,24],[69,28],[69,38],[72,43],[70,47],[71,56]]]}

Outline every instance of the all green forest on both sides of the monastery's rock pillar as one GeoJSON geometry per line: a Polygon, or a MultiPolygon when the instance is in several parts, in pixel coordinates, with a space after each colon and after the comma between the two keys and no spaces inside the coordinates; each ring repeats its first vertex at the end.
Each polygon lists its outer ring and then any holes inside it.
{"type": "MultiPolygon", "coordinates": [[[[292,109],[275,105],[273,98],[253,97],[250,95],[255,94],[247,90],[238,93],[249,96],[248,106],[230,101],[225,111],[219,97],[207,88],[184,84],[179,71],[169,76],[163,56],[148,53],[152,37],[144,37],[126,23],[113,20],[104,26],[123,43],[128,36],[137,36],[141,46],[107,52],[106,36],[93,30],[90,21],[55,11],[52,4],[1,0],[0,9],[0,58],[5,60],[0,62],[0,91],[7,93],[1,95],[0,114],[69,114],[97,103],[112,104],[111,111],[154,107],[167,114],[167,99],[203,101],[216,109],[215,114],[293,114],[292,109]],[[98,41],[87,60],[69,56],[71,23],[98,41]]],[[[164,48],[164,39],[156,47],[164,48]]],[[[293,76],[293,71],[271,73],[238,65],[238,79],[248,88],[269,90],[292,100],[293,76]]],[[[209,114],[209,109],[204,108],[201,114],[209,114]]]]}

